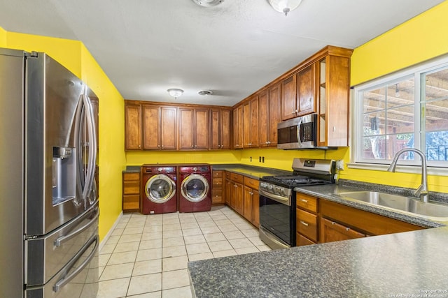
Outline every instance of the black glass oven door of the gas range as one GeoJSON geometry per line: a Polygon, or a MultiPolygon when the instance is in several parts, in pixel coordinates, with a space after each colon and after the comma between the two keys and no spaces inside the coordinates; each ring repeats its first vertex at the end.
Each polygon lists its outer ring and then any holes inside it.
{"type": "Polygon", "coordinates": [[[260,239],[273,249],[295,246],[295,208],[291,202],[285,204],[260,191],[260,239]]]}

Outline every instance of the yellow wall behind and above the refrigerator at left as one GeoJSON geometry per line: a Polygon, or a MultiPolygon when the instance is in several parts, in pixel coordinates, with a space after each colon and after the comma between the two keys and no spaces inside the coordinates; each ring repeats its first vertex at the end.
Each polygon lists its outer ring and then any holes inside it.
{"type": "MultiPolygon", "coordinates": [[[[0,30],[0,45],[2,36],[0,30]]],[[[103,239],[122,210],[121,172],[126,163],[123,96],[80,41],[12,32],[6,32],[5,40],[4,47],[46,52],[99,98],[99,236],[103,239]]]]}

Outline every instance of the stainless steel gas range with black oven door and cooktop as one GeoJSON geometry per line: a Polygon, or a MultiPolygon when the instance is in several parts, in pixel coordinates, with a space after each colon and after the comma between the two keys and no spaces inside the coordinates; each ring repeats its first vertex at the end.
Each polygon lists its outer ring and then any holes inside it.
{"type": "Polygon", "coordinates": [[[294,158],[293,174],[260,179],[260,239],[272,249],[295,246],[298,186],[335,183],[335,161],[294,158]]]}

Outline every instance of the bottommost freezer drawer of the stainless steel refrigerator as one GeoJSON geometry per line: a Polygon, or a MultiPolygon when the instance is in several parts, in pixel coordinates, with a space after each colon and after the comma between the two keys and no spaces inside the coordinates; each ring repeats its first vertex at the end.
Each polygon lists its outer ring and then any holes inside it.
{"type": "Polygon", "coordinates": [[[99,237],[94,234],[66,266],[41,286],[27,287],[26,298],[96,298],[99,237]]]}

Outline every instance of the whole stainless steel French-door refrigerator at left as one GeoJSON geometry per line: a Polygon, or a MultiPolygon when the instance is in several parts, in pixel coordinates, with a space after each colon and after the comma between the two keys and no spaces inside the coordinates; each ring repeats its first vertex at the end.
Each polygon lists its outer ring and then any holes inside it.
{"type": "Polygon", "coordinates": [[[97,296],[97,107],[47,54],[0,48],[0,297],[97,296]]]}

